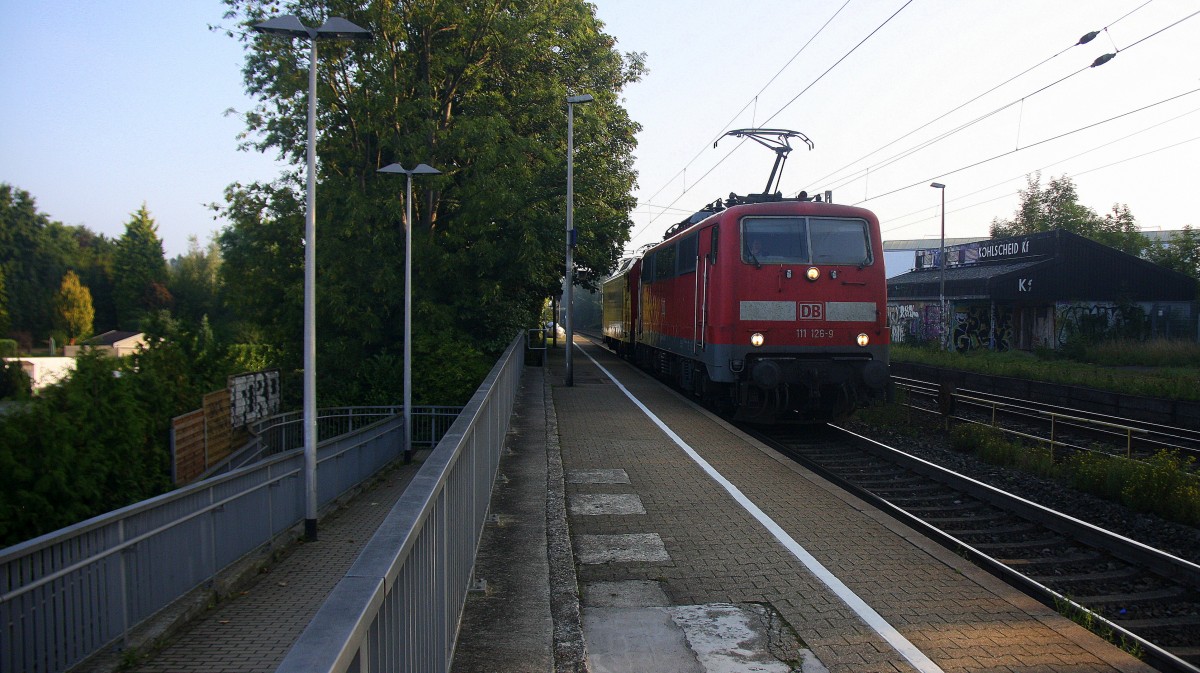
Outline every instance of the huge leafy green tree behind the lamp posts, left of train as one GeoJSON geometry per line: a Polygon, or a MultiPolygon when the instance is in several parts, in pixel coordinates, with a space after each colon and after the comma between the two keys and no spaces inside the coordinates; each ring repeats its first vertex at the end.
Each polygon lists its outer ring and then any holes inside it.
{"type": "MultiPolygon", "coordinates": [[[[595,96],[577,110],[575,128],[580,284],[594,288],[617,262],[629,236],[638,130],[619,95],[640,78],[642,56],[618,54],[589,4],[226,4],[239,31],[278,11],[311,25],[343,16],[374,34],[367,43],[323,43],[318,64],[317,322],[318,361],[326,363],[318,373],[337,373],[318,384],[323,395],[353,402],[361,380],[372,381],[371,395],[384,395],[374,377],[356,372],[403,347],[403,181],[377,174],[388,163],[443,170],[414,181],[414,324],[437,335],[436,344],[414,339],[414,349],[430,349],[415,353],[418,367],[466,362],[433,348],[468,354],[474,345],[480,359],[493,356],[536,323],[541,300],[560,284],[568,94],[595,96]]],[[[275,150],[299,169],[307,46],[240,35],[246,88],[259,101],[246,115],[247,145],[275,150]]],[[[278,330],[269,338],[292,342],[281,349],[288,354],[299,353],[301,335],[293,283],[302,270],[302,198],[294,178],[235,187],[226,206],[232,226],[221,238],[227,287],[254,287],[276,300],[260,324],[278,330]]]]}

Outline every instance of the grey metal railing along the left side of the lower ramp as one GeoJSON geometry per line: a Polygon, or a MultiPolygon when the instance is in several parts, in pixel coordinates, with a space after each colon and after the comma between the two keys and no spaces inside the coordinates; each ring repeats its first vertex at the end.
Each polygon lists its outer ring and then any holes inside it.
{"type": "MultiPolygon", "coordinates": [[[[444,426],[440,413],[421,422],[444,426]]],[[[318,445],[322,505],[400,457],[404,437],[398,415],[326,416],[355,431],[318,445]]],[[[304,513],[304,455],[289,451],[0,549],[0,673],[62,672],[122,642],[304,513]]]]}

